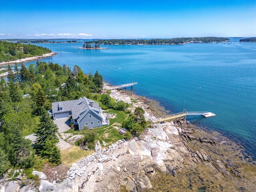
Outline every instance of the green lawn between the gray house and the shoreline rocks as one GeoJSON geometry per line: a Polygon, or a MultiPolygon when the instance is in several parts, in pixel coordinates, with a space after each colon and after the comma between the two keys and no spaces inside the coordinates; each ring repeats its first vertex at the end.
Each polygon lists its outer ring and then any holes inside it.
{"type": "Polygon", "coordinates": [[[106,112],[116,114],[114,119],[110,119],[110,124],[108,126],[98,127],[92,130],[80,131],[74,131],[73,129],[70,129],[64,133],[72,133],[73,135],[86,135],[88,132],[93,131],[96,134],[96,140],[99,140],[100,143],[104,141],[107,143],[107,145],[123,139],[124,137],[120,135],[118,131],[113,128],[113,126],[121,126],[122,122],[126,119],[128,114],[126,114],[124,111],[117,111],[112,109],[106,110],[106,112]]]}

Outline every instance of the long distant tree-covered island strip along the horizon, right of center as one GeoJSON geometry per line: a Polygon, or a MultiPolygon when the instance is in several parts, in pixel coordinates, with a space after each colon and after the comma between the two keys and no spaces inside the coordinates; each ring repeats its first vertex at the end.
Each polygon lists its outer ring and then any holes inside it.
{"type": "Polygon", "coordinates": [[[194,37],[194,38],[173,38],[173,39],[108,39],[92,40],[88,43],[96,44],[184,44],[184,43],[210,43],[228,41],[222,37],[194,37]]]}

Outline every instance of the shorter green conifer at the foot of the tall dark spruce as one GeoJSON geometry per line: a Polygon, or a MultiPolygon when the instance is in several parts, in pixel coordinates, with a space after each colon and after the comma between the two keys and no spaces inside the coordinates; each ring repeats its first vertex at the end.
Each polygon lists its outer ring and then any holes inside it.
{"type": "Polygon", "coordinates": [[[54,142],[46,140],[44,146],[44,157],[48,158],[49,162],[52,164],[61,164],[61,154],[60,149],[56,146],[54,142]]]}

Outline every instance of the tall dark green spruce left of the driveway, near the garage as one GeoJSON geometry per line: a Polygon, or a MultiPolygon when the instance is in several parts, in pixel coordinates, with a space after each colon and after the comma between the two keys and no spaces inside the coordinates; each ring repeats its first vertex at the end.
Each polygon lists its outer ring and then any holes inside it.
{"type": "Polygon", "coordinates": [[[53,120],[49,117],[48,112],[45,110],[40,118],[40,124],[36,131],[36,150],[39,154],[44,156],[46,141],[57,144],[59,139],[57,137],[58,127],[54,124],[53,120]]]}

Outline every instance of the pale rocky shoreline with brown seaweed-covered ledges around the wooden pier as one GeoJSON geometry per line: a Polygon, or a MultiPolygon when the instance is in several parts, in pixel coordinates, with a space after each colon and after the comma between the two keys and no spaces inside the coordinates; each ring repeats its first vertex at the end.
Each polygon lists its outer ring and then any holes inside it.
{"type": "MultiPolygon", "coordinates": [[[[104,88],[108,89],[109,85],[104,88]]],[[[157,102],[131,92],[111,90],[110,96],[145,110],[152,122],[140,138],[106,146],[97,142],[94,154],[72,164],[67,177],[48,182],[47,192],[251,192],[256,188],[256,166],[244,149],[218,132],[186,121],[156,124],[166,112],[157,102]]],[[[41,174],[41,173],[38,173],[41,174]]],[[[8,187],[8,186],[7,186],[8,187]]],[[[18,192],[34,191],[29,186],[18,192]]]]}

